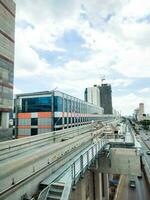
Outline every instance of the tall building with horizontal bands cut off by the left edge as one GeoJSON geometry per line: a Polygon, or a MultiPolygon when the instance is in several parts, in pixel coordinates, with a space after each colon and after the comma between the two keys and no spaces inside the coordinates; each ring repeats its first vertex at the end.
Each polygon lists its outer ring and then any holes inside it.
{"type": "Polygon", "coordinates": [[[0,127],[8,128],[13,103],[15,3],[0,0],[0,127]]]}

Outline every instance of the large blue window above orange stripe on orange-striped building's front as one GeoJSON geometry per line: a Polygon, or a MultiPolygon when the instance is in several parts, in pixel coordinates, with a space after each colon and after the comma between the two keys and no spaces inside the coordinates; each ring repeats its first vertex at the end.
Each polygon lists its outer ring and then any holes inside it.
{"type": "Polygon", "coordinates": [[[22,112],[52,111],[51,96],[22,99],[22,112]]]}

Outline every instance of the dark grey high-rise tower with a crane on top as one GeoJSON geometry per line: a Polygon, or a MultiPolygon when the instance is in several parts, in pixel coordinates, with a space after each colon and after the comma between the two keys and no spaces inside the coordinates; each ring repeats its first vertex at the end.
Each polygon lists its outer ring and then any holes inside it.
{"type": "Polygon", "coordinates": [[[100,89],[100,106],[104,108],[104,114],[112,114],[112,95],[111,85],[102,84],[99,86],[100,89]]]}

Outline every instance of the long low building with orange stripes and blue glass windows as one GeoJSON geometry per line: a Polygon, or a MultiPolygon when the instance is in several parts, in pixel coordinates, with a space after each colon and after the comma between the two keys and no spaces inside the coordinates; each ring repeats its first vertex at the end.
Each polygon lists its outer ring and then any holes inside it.
{"type": "Polygon", "coordinates": [[[19,94],[14,101],[17,138],[91,123],[103,117],[103,108],[59,91],[19,94]]]}

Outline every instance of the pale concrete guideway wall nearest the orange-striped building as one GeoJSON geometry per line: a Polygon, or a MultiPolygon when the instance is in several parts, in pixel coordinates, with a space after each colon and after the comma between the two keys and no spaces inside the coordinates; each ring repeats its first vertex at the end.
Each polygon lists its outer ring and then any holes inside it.
{"type": "Polygon", "coordinates": [[[30,136],[22,139],[1,142],[0,144],[0,161],[9,159],[18,154],[24,154],[27,151],[50,145],[54,142],[61,142],[63,139],[70,139],[77,135],[91,131],[91,125],[83,127],[74,127],[71,130],[65,129],[60,131],[49,132],[42,135],[30,136]]]}

